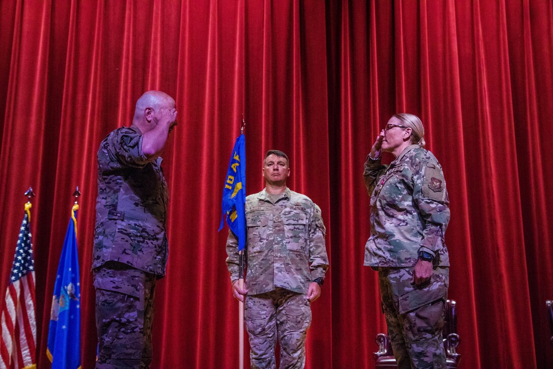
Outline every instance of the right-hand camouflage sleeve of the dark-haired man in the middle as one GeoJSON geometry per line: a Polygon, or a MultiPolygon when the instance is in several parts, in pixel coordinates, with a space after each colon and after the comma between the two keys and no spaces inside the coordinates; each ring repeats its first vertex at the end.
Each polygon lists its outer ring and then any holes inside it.
{"type": "Polygon", "coordinates": [[[328,269],[328,256],[325,245],[325,224],[322,222],[321,208],[314,205],[309,229],[309,263],[311,280],[325,278],[328,269]]]}

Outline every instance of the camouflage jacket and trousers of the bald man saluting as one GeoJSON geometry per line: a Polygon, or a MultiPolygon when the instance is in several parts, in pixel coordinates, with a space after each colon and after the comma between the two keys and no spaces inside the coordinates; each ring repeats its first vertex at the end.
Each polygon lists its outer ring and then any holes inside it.
{"type": "Polygon", "coordinates": [[[98,368],[148,367],[152,357],[153,292],[168,253],[168,191],[161,158],[148,161],[142,137],[134,126],[122,127],[98,149],[92,260],[98,368]]]}

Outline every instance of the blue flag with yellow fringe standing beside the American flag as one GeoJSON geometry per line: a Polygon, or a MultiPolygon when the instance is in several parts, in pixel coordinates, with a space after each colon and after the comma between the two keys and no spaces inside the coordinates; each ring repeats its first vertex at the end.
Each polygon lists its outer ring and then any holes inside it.
{"type": "Polygon", "coordinates": [[[71,219],[65,234],[48,330],[46,355],[56,369],[77,369],[81,366],[81,286],[77,255],[77,209],[71,209],[71,219]]]}

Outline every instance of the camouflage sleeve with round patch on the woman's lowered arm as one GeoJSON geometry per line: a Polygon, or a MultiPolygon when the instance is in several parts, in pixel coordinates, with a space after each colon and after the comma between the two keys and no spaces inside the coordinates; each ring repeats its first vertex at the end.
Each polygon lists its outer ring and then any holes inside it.
{"type": "Polygon", "coordinates": [[[422,161],[414,172],[413,181],[413,200],[424,223],[419,251],[436,256],[444,248],[444,235],[450,221],[444,173],[439,163],[422,161]]]}

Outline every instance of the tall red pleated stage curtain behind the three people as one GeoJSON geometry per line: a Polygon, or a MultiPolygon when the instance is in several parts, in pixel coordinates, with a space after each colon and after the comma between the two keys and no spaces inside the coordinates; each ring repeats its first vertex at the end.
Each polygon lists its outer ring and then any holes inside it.
{"type": "Polygon", "coordinates": [[[321,206],[327,226],[331,269],[306,367],[374,366],[385,322],[376,274],[362,266],[361,173],[400,111],[421,117],[445,171],[462,366],[553,366],[550,2],[19,0],[0,12],[0,291],[31,185],[40,368],[76,185],[82,366],[93,367],[96,150],[148,89],[173,95],[179,110],[164,154],[170,258],[156,291],[153,367],[237,366],[238,308],[226,230],[216,229],[242,112],[248,193],[263,187],[264,151],[284,150],[289,186],[321,206]]]}

